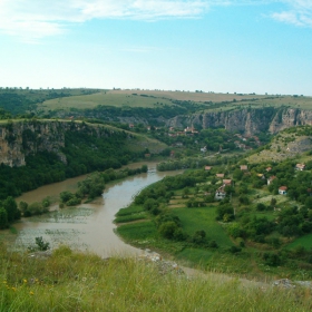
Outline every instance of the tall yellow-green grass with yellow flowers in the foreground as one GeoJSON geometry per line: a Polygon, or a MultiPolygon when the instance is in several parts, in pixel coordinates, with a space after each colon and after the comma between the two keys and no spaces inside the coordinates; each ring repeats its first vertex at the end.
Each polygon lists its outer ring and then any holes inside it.
{"type": "Polygon", "coordinates": [[[0,311],[311,311],[311,292],[222,275],[159,274],[135,259],[76,253],[45,259],[1,250],[0,311]]]}

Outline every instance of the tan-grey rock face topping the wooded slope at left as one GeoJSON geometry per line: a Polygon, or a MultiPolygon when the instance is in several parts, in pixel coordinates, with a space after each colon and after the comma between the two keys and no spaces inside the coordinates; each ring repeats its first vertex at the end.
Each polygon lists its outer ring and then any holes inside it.
{"type": "Polygon", "coordinates": [[[66,131],[100,135],[100,128],[85,123],[57,120],[8,123],[0,126],[0,164],[11,167],[25,166],[25,157],[38,152],[53,152],[66,164],[66,156],[61,153],[66,131]]]}

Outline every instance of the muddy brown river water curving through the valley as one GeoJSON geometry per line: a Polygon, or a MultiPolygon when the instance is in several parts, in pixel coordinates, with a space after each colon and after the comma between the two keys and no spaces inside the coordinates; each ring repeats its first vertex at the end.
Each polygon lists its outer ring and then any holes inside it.
{"type": "MultiPolygon", "coordinates": [[[[142,164],[134,165],[140,167],[142,164]]],[[[42,216],[22,218],[16,224],[19,234],[17,248],[25,248],[35,244],[35,238],[42,236],[51,247],[59,244],[72,248],[90,251],[103,257],[111,255],[139,254],[138,248],[125,244],[114,232],[115,214],[127,206],[135,194],[164,176],[176,175],[181,172],[156,172],[156,164],[147,163],[148,173],[128,177],[106,187],[103,196],[91,204],[81,204],[75,208],[58,209],[42,216]]],[[[39,202],[47,196],[57,197],[60,192],[75,191],[77,183],[86,176],[50,184],[17,198],[17,202],[39,202]]]]}

